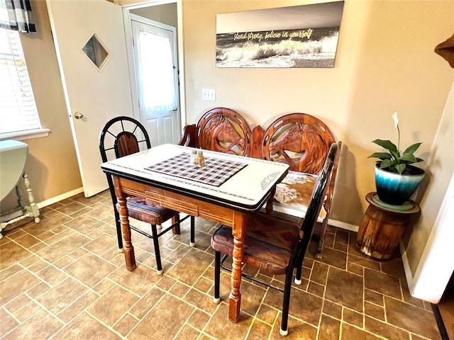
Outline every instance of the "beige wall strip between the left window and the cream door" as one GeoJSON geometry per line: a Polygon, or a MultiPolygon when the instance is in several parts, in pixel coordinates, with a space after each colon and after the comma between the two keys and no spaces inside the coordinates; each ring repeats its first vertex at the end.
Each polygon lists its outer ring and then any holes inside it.
{"type": "MultiPolygon", "coordinates": [[[[35,201],[42,202],[82,187],[70,130],[62,80],[50,33],[45,1],[32,1],[37,33],[21,34],[36,106],[48,137],[24,140],[29,154],[26,164],[35,201]]],[[[1,210],[7,207],[2,205],[1,210]]]]}

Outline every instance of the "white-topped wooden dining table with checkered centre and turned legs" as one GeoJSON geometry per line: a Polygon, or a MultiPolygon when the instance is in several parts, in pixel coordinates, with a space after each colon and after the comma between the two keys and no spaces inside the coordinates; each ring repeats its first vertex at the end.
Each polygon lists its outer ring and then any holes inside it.
{"type": "Polygon", "coordinates": [[[190,162],[194,148],[165,144],[101,164],[114,183],[126,268],[136,268],[126,198],[203,217],[232,227],[234,238],[228,318],[238,322],[243,245],[251,214],[272,199],[289,166],[263,159],[201,151],[204,166],[190,162]]]}

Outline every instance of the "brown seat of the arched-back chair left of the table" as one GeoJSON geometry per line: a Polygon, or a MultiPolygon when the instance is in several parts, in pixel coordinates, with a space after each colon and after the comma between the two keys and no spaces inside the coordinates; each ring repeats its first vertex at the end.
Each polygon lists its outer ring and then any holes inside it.
{"type": "MultiPolygon", "coordinates": [[[[150,223],[150,225],[162,225],[162,223],[170,218],[178,217],[178,212],[175,210],[148,203],[143,198],[135,196],[126,198],[126,207],[128,208],[129,217],[150,223]]],[[[116,208],[119,208],[118,203],[116,204],[116,208]]]]}

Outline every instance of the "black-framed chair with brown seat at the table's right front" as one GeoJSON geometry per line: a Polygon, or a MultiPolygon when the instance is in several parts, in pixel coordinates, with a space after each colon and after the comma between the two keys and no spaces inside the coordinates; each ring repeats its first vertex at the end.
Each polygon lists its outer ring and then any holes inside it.
{"type": "MultiPolygon", "coordinates": [[[[331,145],[328,157],[317,177],[314,190],[301,225],[289,222],[272,215],[258,213],[252,215],[248,222],[244,241],[243,263],[260,268],[261,273],[269,276],[285,274],[284,290],[269,285],[258,278],[252,278],[243,273],[245,278],[270,286],[284,292],[282,302],[282,323],[279,333],[287,335],[287,321],[289,315],[290,291],[294,268],[297,268],[294,282],[301,284],[301,271],[304,254],[314,232],[316,220],[321,210],[323,198],[328,189],[334,159],[338,152],[336,143],[331,145]]],[[[233,236],[231,227],[222,225],[211,237],[211,246],[215,250],[214,268],[214,302],[220,301],[219,286],[221,265],[226,256],[233,255],[233,236]],[[221,253],[226,254],[221,260],[221,253]]],[[[223,266],[223,268],[226,268],[223,266]]],[[[227,268],[230,270],[230,268],[227,268]]]]}

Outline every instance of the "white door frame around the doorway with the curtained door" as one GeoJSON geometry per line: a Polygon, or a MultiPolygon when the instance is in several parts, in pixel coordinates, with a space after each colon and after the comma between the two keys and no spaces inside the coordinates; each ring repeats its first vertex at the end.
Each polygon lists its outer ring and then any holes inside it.
{"type": "MultiPolygon", "coordinates": [[[[135,65],[134,65],[134,49],[133,49],[133,31],[131,28],[132,18],[137,18],[132,13],[129,13],[130,9],[159,6],[163,4],[177,4],[177,67],[179,71],[178,75],[178,86],[179,86],[179,133],[182,134],[184,125],[187,125],[186,115],[186,88],[184,79],[184,49],[183,49],[183,20],[182,20],[182,0],[152,0],[145,4],[133,4],[123,6],[123,23],[126,38],[126,55],[128,56],[128,71],[130,74],[131,83],[131,99],[133,101],[133,117],[140,120],[140,108],[139,98],[137,89],[137,79],[135,77],[135,65]]],[[[147,19],[151,20],[151,19],[147,19]]]]}

